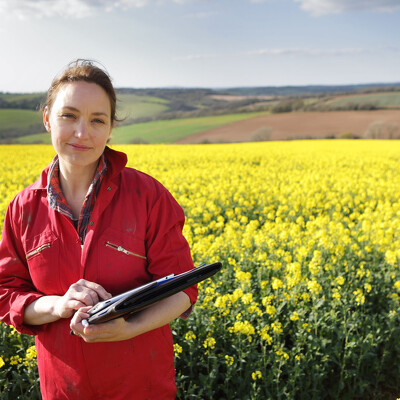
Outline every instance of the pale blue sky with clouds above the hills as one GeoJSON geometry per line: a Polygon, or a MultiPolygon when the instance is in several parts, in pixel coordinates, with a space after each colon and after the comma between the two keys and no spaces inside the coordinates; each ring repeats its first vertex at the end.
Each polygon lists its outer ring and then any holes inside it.
{"type": "Polygon", "coordinates": [[[400,82],[399,0],[0,0],[0,91],[75,58],[116,87],[400,82]]]}

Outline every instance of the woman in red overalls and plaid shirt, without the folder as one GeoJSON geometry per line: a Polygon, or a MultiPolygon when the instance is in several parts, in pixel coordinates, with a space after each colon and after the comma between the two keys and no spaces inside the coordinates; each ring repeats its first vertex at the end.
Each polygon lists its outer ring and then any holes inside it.
{"type": "Polygon", "coordinates": [[[5,217],[0,319],[36,335],[45,400],[176,394],[168,323],[189,314],[196,287],[127,320],[81,322],[99,300],[193,268],[180,206],[106,146],[115,109],[108,74],[90,61],[56,77],[43,121],[57,155],[5,217]]]}

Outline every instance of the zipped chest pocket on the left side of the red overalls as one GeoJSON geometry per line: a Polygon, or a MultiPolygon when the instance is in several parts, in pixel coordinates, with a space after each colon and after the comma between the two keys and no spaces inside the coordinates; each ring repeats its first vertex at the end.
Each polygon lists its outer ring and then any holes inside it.
{"type": "Polygon", "coordinates": [[[59,239],[43,232],[26,241],[25,257],[32,282],[44,294],[63,294],[60,287],[59,239]]]}

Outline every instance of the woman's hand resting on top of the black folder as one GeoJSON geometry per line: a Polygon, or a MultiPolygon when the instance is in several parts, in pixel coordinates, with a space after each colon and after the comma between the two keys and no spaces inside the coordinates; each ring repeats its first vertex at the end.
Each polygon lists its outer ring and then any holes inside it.
{"type": "Polygon", "coordinates": [[[81,307],[94,306],[101,300],[111,297],[98,283],[80,279],[72,284],[64,296],[59,297],[54,304],[54,313],[59,318],[69,318],[81,307]]]}

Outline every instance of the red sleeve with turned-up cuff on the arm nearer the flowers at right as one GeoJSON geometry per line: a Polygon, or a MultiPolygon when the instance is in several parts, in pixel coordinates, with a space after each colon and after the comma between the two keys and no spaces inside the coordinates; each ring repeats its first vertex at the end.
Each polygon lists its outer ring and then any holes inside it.
{"type": "MultiPolygon", "coordinates": [[[[173,198],[164,190],[148,216],[146,251],[148,259],[148,271],[154,279],[174,273],[175,275],[194,268],[190,254],[189,244],[182,234],[185,215],[173,198]]],[[[197,300],[197,285],[184,290],[193,304],[197,300]]],[[[182,318],[186,319],[192,307],[182,318]]]]}

